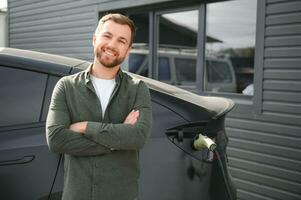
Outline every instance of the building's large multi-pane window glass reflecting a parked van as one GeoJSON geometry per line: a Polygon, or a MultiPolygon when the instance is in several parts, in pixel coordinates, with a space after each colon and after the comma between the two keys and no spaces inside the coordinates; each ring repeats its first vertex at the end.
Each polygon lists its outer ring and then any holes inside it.
{"type": "Polygon", "coordinates": [[[256,11],[257,0],[232,0],[130,14],[137,32],[125,69],[192,92],[253,95],[256,11]]]}

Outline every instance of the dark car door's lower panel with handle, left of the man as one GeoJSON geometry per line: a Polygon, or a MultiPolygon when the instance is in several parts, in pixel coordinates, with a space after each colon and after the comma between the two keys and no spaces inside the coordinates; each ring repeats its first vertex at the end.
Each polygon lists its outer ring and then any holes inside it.
{"type": "Polygon", "coordinates": [[[49,193],[57,155],[49,152],[45,125],[0,129],[0,198],[36,199],[49,193]]]}

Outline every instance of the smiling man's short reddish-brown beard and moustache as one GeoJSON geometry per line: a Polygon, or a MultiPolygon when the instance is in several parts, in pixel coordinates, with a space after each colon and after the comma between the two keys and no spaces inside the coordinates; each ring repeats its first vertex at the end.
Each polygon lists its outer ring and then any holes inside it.
{"type": "Polygon", "coordinates": [[[124,61],[125,57],[119,57],[119,53],[117,51],[115,51],[114,49],[110,49],[110,51],[114,52],[114,54],[116,55],[116,58],[114,58],[114,59],[107,58],[107,56],[104,53],[105,49],[106,48],[101,48],[100,51],[96,50],[96,52],[95,52],[98,62],[101,63],[104,67],[114,68],[114,67],[120,65],[124,61]]]}

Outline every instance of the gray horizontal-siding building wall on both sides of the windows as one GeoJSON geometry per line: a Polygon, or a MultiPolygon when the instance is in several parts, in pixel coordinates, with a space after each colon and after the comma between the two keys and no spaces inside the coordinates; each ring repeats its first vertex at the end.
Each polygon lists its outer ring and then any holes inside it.
{"type": "MultiPolygon", "coordinates": [[[[9,46],[92,60],[98,12],[163,2],[9,0],[9,46]]],[[[258,0],[253,100],[231,97],[229,166],[241,200],[301,199],[301,1],[258,0]]],[[[228,96],[226,96],[228,97],[228,96]]]]}

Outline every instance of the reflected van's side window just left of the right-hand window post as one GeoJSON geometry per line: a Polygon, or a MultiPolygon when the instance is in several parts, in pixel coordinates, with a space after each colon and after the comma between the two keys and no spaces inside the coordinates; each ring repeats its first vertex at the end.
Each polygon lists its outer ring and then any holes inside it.
{"type": "Polygon", "coordinates": [[[176,77],[179,83],[195,82],[196,60],[189,58],[175,58],[176,77]]]}

